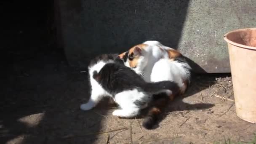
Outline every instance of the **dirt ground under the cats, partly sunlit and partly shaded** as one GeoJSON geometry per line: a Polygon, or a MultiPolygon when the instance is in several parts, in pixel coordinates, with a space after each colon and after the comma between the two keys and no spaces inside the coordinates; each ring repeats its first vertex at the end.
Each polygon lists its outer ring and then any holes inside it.
{"type": "Polygon", "coordinates": [[[230,75],[196,75],[171,102],[154,130],[142,119],[113,117],[105,99],[81,111],[89,98],[86,69],[70,68],[59,51],[34,53],[7,69],[0,101],[1,144],[207,144],[251,141],[256,125],[235,114],[230,75]]]}

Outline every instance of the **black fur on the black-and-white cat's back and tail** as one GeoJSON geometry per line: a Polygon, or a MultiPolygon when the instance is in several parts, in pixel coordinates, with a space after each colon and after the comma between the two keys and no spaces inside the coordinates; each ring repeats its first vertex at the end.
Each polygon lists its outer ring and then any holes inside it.
{"type": "Polygon", "coordinates": [[[132,90],[134,88],[151,94],[164,89],[176,91],[179,88],[176,83],[171,81],[147,83],[131,68],[118,63],[105,64],[99,73],[94,72],[93,77],[97,77],[96,81],[113,96],[122,91],[132,90]]]}

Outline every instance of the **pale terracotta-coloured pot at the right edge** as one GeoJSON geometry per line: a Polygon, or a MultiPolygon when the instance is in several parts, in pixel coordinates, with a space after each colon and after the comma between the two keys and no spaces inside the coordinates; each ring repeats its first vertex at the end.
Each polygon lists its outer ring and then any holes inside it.
{"type": "Polygon", "coordinates": [[[256,28],[238,29],[224,35],[237,116],[256,123],[256,28]]]}

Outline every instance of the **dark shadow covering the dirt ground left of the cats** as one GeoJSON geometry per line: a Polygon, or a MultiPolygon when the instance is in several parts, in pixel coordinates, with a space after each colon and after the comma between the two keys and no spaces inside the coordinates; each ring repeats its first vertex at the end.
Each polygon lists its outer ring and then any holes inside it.
{"type": "MultiPolygon", "coordinates": [[[[14,64],[8,93],[1,100],[1,143],[69,143],[67,135],[97,132],[107,110],[83,112],[79,106],[88,98],[86,73],[70,69],[60,52],[14,64]]],[[[71,143],[93,142],[95,135],[71,143]]]]}

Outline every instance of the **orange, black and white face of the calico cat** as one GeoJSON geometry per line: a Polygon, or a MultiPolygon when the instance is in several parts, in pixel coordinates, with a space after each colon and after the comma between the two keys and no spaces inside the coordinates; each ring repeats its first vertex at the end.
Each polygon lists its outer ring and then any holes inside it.
{"type": "Polygon", "coordinates": [[[136,45],[129,51],[120,54],[119,58],[124,61],[126,67],[130,67],[137,74],[143,75],[144,68],[148,63],[147,51],[145,51],[147,46],[146,44],[136,45]]]}

